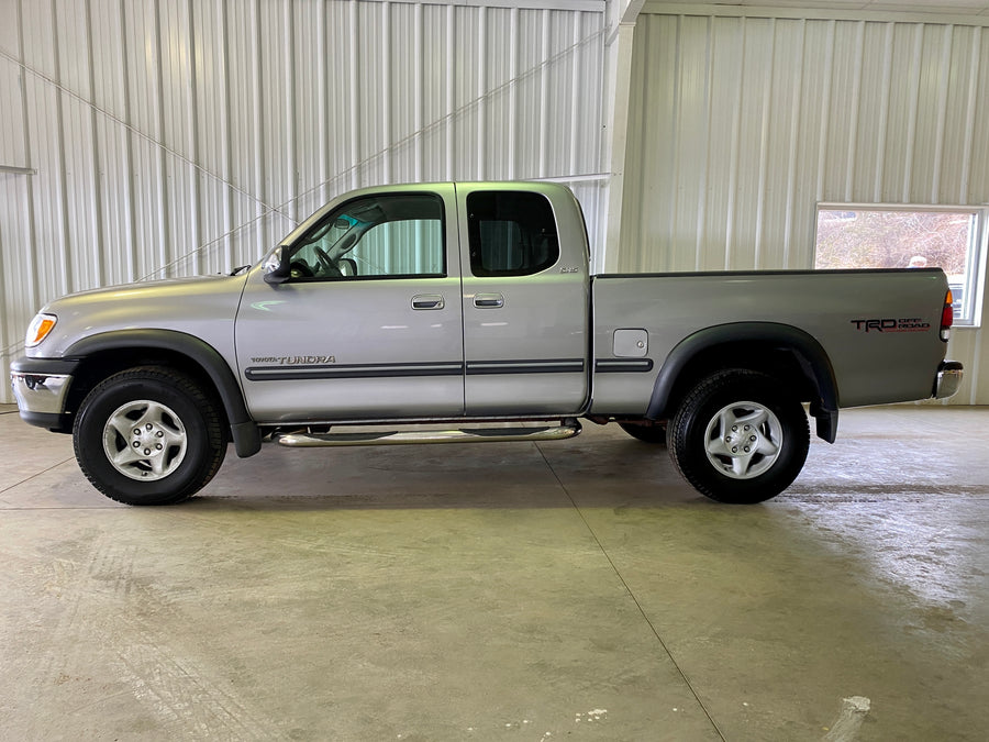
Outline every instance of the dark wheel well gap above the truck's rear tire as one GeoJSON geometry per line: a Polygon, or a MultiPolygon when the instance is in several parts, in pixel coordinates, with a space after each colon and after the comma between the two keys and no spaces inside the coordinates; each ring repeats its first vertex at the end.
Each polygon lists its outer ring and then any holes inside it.
{"type": "Polygon", "coordinates": [[[711,374],[729,368],[759,372],[787,387],[801,402],[820,402],[821,391],[813,372],[792,347],[773,342],[723,343],[698,352],[674,381],[664,406],[670,417],[697,383],[711,374]]]}

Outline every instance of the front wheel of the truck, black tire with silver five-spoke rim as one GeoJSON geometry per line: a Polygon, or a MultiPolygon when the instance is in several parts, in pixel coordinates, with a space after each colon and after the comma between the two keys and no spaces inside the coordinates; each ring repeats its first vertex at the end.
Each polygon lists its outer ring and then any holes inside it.
{"type": "Polygon", "coordinates": [[[144,366],[114,374],[82,401],[76,459],[98,490],[127,505],[192,497],[220,469],[226,441],[216,401],[191,378],[144,366]]]}

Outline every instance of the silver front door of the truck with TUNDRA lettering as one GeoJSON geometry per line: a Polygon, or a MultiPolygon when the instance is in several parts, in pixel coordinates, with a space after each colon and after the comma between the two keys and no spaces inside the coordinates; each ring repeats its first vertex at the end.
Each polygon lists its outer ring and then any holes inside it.
{"type": "Polygon", "coordinates": [[[356,196],[284,248],[286,283],[252,272],[236,348],[255,420],[464,413],[455,213],[453,186],[356,196]]]}

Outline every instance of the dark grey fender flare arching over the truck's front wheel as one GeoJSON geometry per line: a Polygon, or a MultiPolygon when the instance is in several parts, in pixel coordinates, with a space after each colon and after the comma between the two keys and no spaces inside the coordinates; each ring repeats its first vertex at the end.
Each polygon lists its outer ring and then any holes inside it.
{"type": "Polygon", "coordinates": [[[223,356],[209,343],[177,330],[113,330],[76,341],[64,353],[66,358],[85,359],[95,353],[134,348],[158,348],[184,355],[199,365],[220,395],[237,456],[246,458],[260,451],[260,432],[247,406],[237,379],[223,356]]]}

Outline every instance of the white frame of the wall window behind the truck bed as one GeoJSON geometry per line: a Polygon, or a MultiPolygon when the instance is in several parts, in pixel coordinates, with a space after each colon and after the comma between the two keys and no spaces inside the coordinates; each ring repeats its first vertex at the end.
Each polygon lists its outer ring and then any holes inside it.
{"type": "MultiPolygon", "coordinates": [[[[979,326],[982,300],[986,292],[987,240],[989,240],[989,207],[930,204],[930,203],[853,203],[844,201],[820,201],[814,212],[813,264],[818,262],[818,223],[822,211],[903,211],[929,213],[967,213],[975,219],[975,234],[965,257],[965,283],[962,304],[955,314],[955,325],[979,326]]],[[[875,266],[890,267],[890,266],[875,266]]]]}

